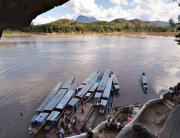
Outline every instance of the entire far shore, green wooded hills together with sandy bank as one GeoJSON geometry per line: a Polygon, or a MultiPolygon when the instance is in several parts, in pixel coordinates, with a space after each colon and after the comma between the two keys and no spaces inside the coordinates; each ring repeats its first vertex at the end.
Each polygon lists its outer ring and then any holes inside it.
{"type": "Polygon", "coordinates": [[[80,23],[68,19],[61,19],[43,25],[30,25],[20,30],[6,30],[3,36],[29,35],[158,35],[174,36],[174,26],[161,26],[139,19],[115,19],[111,22],[97,21],[80,23]]]}

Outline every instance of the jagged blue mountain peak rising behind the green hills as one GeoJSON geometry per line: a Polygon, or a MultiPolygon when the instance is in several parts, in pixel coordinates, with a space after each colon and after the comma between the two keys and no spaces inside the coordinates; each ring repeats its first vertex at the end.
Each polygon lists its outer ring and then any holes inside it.
{"type": "Polygon", "coordinates": [[[80,23],[93,23],[93,22],[97,22],[98,20],[95,17],[87,17],[84,15],[80,15],[77,17],[75,21],[80,23]]]}

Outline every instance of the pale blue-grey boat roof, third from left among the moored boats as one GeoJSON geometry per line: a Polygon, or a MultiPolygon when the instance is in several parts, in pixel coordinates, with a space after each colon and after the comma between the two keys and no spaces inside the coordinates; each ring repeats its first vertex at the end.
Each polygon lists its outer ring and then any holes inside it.
{"type": "Polygon", "coordinates": [[[69,90],[65,96],[61,99],[61,101],[56,106],[56,109],[63,110],[66,104],[69,102],[69,100],[72,98],[72,96],[75,94],[75,90],[69,90]]]}

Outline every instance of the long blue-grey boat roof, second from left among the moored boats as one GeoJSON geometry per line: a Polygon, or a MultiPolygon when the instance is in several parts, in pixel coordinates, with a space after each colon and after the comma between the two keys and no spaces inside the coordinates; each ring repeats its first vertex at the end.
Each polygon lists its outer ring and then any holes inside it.
{"type": "Polygon", "coordinates": [[[59,101],[64,97],[66,94],[67,89],[60,89],[54,98],[44,107],[44,111],[52,111],[59,101]]]}

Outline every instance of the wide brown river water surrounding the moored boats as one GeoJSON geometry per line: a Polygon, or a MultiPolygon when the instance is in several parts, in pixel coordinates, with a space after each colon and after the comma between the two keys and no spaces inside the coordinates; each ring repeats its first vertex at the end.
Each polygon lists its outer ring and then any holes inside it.
{"type": "Polygon", "coordinates": [[[159,97],[180,80],[179,63],[180,46],[172,37],[4,37],[0,138],[33,137],[28,128],[36,108],[58,81],[71,75],[81,83],[96,69],[111,69],[120,84],[114,106],[120,106],[159,97]],[[140,85],[142,72],[148,77],[147,94],[140,85]]]}

